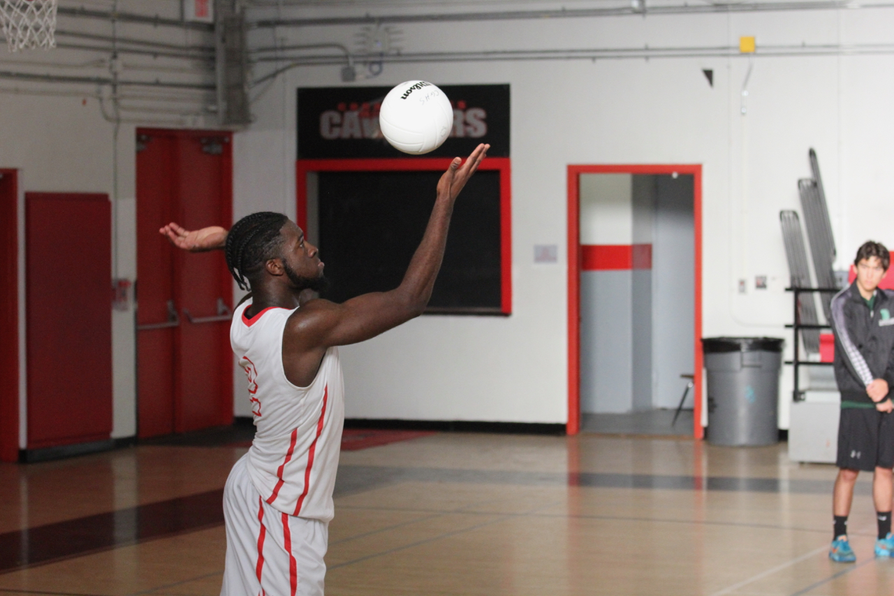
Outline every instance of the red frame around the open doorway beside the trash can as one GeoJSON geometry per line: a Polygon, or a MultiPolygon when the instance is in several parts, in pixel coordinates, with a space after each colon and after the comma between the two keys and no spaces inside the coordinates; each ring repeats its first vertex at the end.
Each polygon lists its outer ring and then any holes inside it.
{"type": "Polygon", "coordinates": [[[580,430],[580,175],[581,174],[690,174],[695,188],[696,228],[696,353],[693,436],[704,438],[702,428],[702,166],[568,166],[568,424],[566,432],[580,430]]]}

